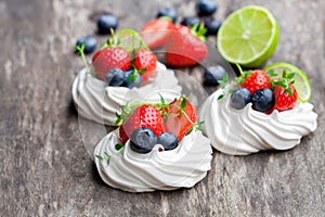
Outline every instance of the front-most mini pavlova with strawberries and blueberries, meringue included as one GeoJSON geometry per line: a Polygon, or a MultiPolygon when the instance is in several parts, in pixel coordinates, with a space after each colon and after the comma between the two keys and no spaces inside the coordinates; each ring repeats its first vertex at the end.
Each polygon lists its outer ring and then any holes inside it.
{"type": "Polygon", "coordinates": [[[182,97],[122,106],[119,127],[99,142],[95,164],[110,187],[129,192],[191,188],[211,168],[210,140],[182,97]]]}

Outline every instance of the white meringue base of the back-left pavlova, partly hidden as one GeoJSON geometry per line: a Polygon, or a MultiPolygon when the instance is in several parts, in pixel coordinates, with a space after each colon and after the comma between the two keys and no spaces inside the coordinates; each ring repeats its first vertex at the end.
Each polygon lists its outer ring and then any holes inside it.
{"type": "Polygon", "coordinates": [[[160,93],[166,102],[181,95],[181,87],[172,71],[157,62],[157,77],[153,82],[141,88],[107,87],[106,84],[92,77],[83,68],[74,80],[72,92],[78,113],[100,124],[114,125],[116,112],[129,101],[152,103],[159,102],[160,93]]]}

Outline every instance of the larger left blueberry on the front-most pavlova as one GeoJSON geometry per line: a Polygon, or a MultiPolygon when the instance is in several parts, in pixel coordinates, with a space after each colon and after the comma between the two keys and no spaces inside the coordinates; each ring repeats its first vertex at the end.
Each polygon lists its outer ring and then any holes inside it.
{"type": "Polygon", "coordinates": [[[130,146],[134,152],[146,154],[157,144],[157,137],[150,128],[138,128],[130,137],[130,146]]]}

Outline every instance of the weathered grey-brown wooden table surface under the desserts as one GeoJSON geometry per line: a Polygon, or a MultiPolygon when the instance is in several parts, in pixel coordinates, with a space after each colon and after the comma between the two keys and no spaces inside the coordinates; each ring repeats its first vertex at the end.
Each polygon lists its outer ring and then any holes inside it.
{"type": "MultiPolygon", "coordinates": [[[[218,1],[217,17],[260,3],[276,16],[272,62],[308,73],[318,128],[285,152],[230,156],[192,189],[127,193],[103,183],[82,144],[70,86],[73,47],[94,34],[96,14],[140,29],[160,7],[194,15],[195,1],[0,1],[0,216],[324,216],[325,1],[218,1]]],[[[104,41],[104,37],[99,37],[104,41]]],[[[190,72],[191,73],[191,72],[190,72]]]]}

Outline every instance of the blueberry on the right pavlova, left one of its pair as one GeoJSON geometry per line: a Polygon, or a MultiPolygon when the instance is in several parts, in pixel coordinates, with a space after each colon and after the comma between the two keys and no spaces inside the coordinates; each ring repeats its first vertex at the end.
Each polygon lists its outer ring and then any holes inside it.
{"type": "Polygon", "coordinates": [[[242,110],[250,102],[250,92],[247,88],[237,88],[231,94],[230,105],[235,110],[242,110]]]}

